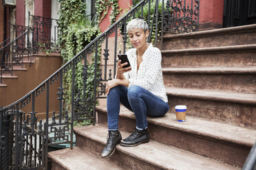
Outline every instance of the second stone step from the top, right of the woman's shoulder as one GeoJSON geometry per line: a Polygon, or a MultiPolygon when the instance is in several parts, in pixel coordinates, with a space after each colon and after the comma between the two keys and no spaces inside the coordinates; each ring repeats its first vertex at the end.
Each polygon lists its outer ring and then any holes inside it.
{"type": "Polygon", "coordinates": [[[163,50],[162,66],[256,66],[256,44],[163,50]]]}

